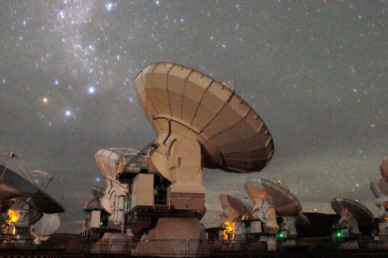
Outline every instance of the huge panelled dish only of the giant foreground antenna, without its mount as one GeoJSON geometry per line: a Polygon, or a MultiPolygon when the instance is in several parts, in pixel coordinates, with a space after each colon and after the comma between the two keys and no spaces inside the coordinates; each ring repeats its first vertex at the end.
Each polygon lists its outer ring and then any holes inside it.
{"type": "Polygon", "coordinates": [[[174,63],[153,63],[136,78],[140,105],[158,136],[200,142],[204,166],[260,171],[274,153],[270,131],[230,84],[174,63]]]}

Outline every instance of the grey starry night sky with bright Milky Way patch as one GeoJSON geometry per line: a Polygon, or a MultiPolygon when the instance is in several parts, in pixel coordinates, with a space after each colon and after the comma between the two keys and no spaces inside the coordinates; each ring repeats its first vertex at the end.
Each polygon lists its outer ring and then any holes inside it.
{"type": "Polygon", "coordinates": [[[103,184],[98,149],[155,138],[134,78],[149,63],[193,67],[263,118],[274,157],[260,173],[204,169],[207,213],[248,176],[281,178],[306,212],[357,198],[388,153],[387,1],[0,0],[0,150],[63,186],[61,232],[79,233],[103,184]]]}

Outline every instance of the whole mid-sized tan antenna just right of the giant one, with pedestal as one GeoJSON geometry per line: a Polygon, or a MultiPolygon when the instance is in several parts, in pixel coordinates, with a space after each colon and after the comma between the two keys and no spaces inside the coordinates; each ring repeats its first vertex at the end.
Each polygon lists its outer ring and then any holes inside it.
{"type": "MultiPolygon", "coordinates": [[[[244,186],[250,198],[255,202],[255,208],[252,212],[263,222],[263,233],[266,235],[261,236],[260,240],[267,241],[268,250],[276,249],[275,235],[279,230],[276,215],[283,219],[281,224],[282,237],[297,237],[295,222],[302,207],[299,200],[290,193],[283,181],[272,182],[265,178],[250,177],[244,186]]],[[[294,241],[288,241],[287,244],[294,244],[294,241]]]]}

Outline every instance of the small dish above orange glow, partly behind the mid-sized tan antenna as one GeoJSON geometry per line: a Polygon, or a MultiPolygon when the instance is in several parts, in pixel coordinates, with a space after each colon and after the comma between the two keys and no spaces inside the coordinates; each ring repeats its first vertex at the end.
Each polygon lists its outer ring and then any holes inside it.
{"type": "Polygon", "coordinates": [[[242,200],[241,197],[230,193],[221,193],[219,195],[219,201],[230,222],[233,222],[233,220],[241,215],[249,213],[253,208],[252,204],[249,204],[242,200]]]}

